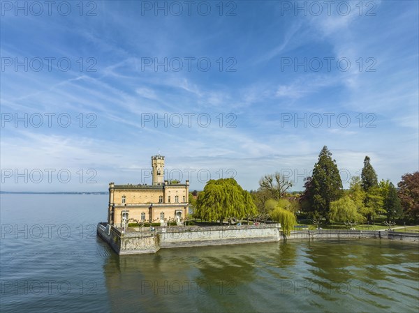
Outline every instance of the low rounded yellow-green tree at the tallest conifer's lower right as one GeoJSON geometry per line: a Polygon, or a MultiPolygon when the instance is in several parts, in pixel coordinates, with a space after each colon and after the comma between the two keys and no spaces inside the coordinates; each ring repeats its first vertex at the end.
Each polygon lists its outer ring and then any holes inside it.
{"type": "Polygon", "coordinates": [[[362,222],[364,217],[358,213],[355,202],[349,197],[344,196],[341,199],[330,203],[330,219],[335,222],[344,222],[355,224],[362,222]]]}

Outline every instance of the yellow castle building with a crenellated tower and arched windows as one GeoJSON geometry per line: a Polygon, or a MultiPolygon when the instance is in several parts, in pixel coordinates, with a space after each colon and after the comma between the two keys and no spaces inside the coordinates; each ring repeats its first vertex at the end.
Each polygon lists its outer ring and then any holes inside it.
{"type": "Polygon", "coordinates": [[[164,222],[170,217],[180,222],[188,213],[189,181],[164,180],[164,156],[152,156],[152,185],[109,184],[108,224],[123,226],[131,222],[164,222]]]}

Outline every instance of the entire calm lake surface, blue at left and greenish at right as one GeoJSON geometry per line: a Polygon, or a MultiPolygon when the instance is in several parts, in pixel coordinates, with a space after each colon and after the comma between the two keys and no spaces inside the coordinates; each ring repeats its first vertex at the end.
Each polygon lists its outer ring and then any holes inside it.
{"type": "Polygon", "coordinates": [[[1,194],[1,312],[418,312],[418,245],[325,240],[117,256],[107,195],[1,194]]]}

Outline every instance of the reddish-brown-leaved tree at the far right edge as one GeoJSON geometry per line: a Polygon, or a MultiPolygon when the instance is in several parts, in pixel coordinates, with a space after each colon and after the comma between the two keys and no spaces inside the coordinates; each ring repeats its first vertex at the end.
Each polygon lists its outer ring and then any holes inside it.
{"type": "Polygon", "coordinates": [[[402,176],[399,186],[399,198],[403,213],[412,222],[419,222],[419,171],[402,176]]]}

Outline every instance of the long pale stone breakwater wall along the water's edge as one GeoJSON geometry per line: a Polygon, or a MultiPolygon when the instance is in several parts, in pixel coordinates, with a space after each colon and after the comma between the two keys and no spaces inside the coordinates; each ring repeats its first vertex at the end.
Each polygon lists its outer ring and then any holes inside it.
{"type": "Polygon", "coordinates": [[[140,229],[123,233],[106,223],[99,223],[97,234],[117,254],[156,253],[163,248],[197,247],[205,245],[235,245],[263,243],[289,239],[376,238],[419,243],[419,234],[394,231],[314,230],[292,231],[284,236],[279,224],[219,226],[219,227],[156,227],[155,231],[140,229]]]}

